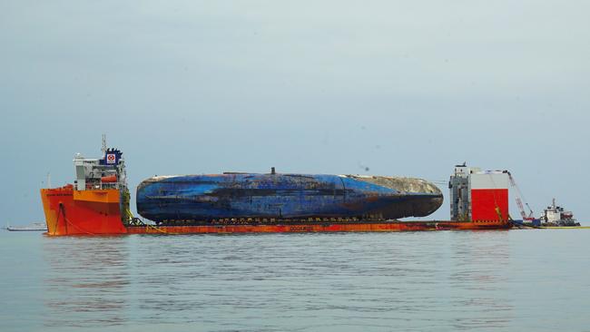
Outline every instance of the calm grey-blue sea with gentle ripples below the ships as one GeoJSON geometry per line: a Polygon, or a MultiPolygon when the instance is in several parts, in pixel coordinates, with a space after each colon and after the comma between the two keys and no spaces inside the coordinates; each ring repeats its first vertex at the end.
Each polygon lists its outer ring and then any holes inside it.
{"type": "Polygon", "coordinates": [[[0,249],[0,331],[590,331],[590,229],[2,230],[0,249]]]}

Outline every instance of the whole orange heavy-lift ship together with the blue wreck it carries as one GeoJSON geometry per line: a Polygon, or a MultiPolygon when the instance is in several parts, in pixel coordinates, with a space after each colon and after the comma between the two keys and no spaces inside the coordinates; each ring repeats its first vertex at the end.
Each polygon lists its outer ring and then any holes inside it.
{"type": "Polygon", "coordinates": [[[385,176],[225,172],[140,183],[129,209],[123,153],[74,158],[75,181],[42,189],[47,235],[508,229],[508,174],[465,164],[449,181],[451,220],[425,217],[443,195],[428,181],[385,176]]]}

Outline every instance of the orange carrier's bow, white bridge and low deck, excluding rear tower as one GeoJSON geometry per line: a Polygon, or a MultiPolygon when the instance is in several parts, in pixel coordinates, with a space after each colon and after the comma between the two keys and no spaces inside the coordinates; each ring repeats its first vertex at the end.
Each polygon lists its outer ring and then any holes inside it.
{"type": "MultiPolygon", "coordinates": [[[[122,153],[103,147],[101,160],[76,156],[76,181],[61,188],[42,189],[47,235],[383,232],[450,229],[509,229],[502,220],[398,221],[398,220],[216,220],[190,225],[155,226],[133,219],[129,213],[122,153]]],[[[492,215],[493,216],[493,215],[492,215]]],[[[180,221],[182,222],[182,221],[180,221]]]]}

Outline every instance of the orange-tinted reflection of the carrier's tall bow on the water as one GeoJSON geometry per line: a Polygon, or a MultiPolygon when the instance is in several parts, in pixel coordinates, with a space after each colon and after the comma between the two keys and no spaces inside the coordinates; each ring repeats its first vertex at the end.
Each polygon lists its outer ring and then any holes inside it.
{"type": "Polygon", "coordinates": [[[44,238],[46,327],[120,325],[128,306],[127,239],[44,238]]]}

